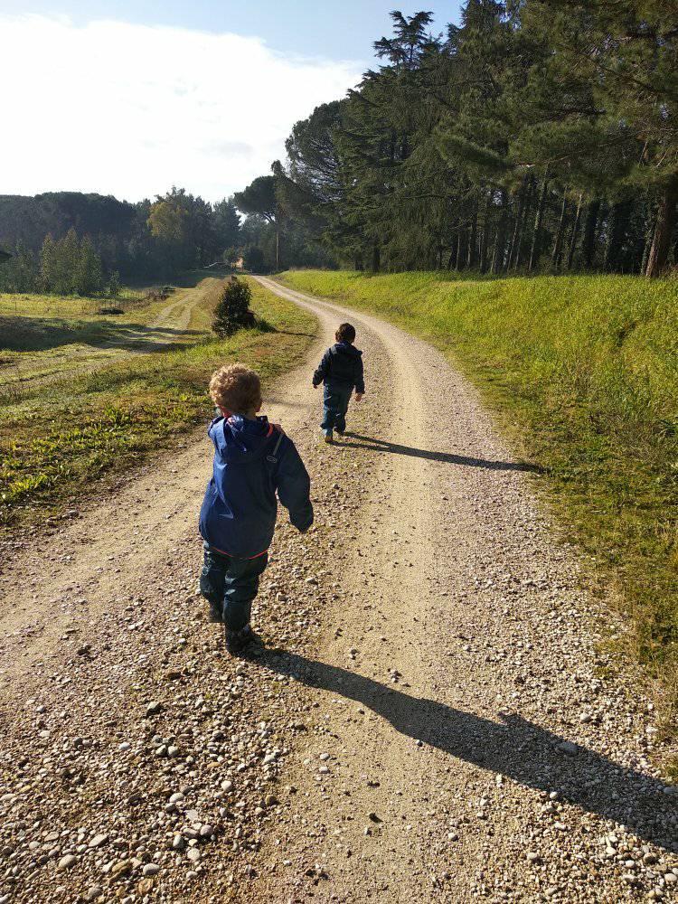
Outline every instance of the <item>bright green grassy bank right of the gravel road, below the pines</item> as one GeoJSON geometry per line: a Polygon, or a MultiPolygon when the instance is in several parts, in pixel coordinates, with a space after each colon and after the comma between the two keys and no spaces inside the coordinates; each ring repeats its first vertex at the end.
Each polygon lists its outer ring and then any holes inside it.
{"type": "MultiPolygon", "coordinates": [[[[428,339],[545,471],[560,519],[678,699],[678,281],[285,274],[428,339]]],[[[675,710],[673,711],[675,714],[675,710]]]]}

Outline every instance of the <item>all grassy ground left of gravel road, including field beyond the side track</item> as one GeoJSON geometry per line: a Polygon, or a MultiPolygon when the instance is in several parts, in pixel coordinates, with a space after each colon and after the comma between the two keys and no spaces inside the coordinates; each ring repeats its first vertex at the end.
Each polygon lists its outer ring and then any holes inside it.
{"type": "MultiPolygon", "coordinates": [[[[149,326],[163,320],[179,291],[160,306],[138,306],[115,319],[71,298],[43,300],[51,307],[45,311],[40,299],[24,297],[30,316],[14,317],[0,307],[0,534],[40,523],[93,488],[99,476],[172,447],[211,416],[207,381],[219,364],[249,363],[269,381],[302,359],[314,318],[254,281],[252,309],[265,328],[215,341],[209,324],[219,285],[213,278],[201,282],[193,290],[200,293],[197,302],[186,296],[191,306],[187,314],[179,311],[188,318],[185,326],[182,316],[179,326],[149,326]],[[21,344],[33,349],[19,353],[33,376],[10,389],[21,344]],[[83,349],[111,356],[83,369],[83,349]],[[45,353],[53,359],[48,364],[45,353]]],[[[3,303],[14,311],[14,299],[0,298],[3,303]]]]}

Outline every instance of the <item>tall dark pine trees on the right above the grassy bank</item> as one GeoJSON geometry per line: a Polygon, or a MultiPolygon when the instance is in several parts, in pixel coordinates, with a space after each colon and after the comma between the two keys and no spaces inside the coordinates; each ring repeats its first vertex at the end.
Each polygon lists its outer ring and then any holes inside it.
{"type": "Polygon", "coordinates": [[[235,201],[354,268],[678,264],[678,7],[467,0],[391,14],[381,61],[235,201]]]}

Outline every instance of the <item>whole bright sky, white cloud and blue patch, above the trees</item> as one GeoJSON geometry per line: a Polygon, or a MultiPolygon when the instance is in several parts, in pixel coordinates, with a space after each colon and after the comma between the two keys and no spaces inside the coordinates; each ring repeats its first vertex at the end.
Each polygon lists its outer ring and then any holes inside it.
{"type": "MultiPolygon", "coordinates": [[[[374,66],[377,0],[0,0],[0,193],[218,201],[374,66]],[[11,127],[10,124],[12,124],[11,127]]],[[[433,3],[434,32],[458,21],[433,3]]]]}

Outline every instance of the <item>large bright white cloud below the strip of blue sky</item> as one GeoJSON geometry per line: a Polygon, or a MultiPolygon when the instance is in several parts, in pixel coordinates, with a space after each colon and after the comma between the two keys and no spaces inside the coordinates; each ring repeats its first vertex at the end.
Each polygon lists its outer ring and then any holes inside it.
{"type": "Polygon", "coordinates": [[[175,184],[214,201],[268,174],[297,119],[359,77],[237,34],[0,15],[0,192],[137,201],[175,184]]]}

